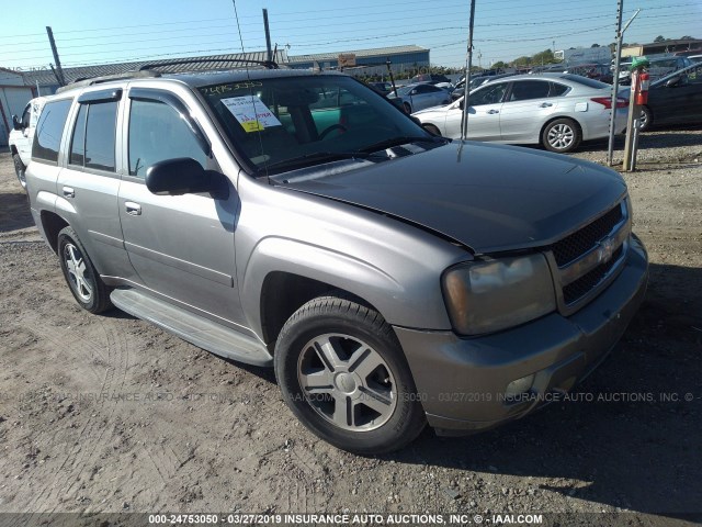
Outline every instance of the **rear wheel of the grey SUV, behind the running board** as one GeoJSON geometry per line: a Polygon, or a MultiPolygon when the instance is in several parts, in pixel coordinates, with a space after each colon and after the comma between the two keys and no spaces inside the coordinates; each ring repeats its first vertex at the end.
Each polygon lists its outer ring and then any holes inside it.
{"type": "Polygon", "coordinates": [[[110,290],[72,227],[58,233],[58,257],[70,292],[83,310],[98,314],[112,307],[110,290]]]}

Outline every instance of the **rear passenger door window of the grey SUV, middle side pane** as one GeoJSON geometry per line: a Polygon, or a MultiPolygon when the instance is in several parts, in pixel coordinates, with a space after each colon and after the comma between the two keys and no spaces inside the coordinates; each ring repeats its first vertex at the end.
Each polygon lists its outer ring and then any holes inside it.
{"type": "Polygon", "coordinates": [[[71,165],[114,172],[117,102],[81,104],[70,145],[71,165]]]}

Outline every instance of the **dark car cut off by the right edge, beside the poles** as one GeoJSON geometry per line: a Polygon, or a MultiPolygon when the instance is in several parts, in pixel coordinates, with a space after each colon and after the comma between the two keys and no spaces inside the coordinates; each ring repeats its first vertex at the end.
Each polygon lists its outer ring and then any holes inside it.
{"type": "Polygon", "coordinates": [[[692,64],[650,83],[639,130],[702,123],[702,64],[692,64]]]}

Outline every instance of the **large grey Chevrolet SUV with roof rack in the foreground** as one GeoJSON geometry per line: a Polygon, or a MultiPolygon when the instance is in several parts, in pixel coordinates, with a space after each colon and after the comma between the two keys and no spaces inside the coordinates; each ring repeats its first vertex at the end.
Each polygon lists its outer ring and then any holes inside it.
{"type": "Polygon", "coordinates": [[[360,453],[571,389],[646,284],[616,172],[432,136],[338,74],[82,81],[47,101],[27,190],[82,307],[273,367],[360,453]]]}

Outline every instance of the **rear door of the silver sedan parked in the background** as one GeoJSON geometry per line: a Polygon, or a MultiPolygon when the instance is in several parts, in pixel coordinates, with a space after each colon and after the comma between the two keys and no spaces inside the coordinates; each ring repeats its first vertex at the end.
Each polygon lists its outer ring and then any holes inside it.
{"type": "Polygon", "coordinates": [[[510,143],[539,142],[543,124],[557,108],[550,98],[551,82],[545,79],[512,82],[500,112],[500,135],[510,143]]]}

